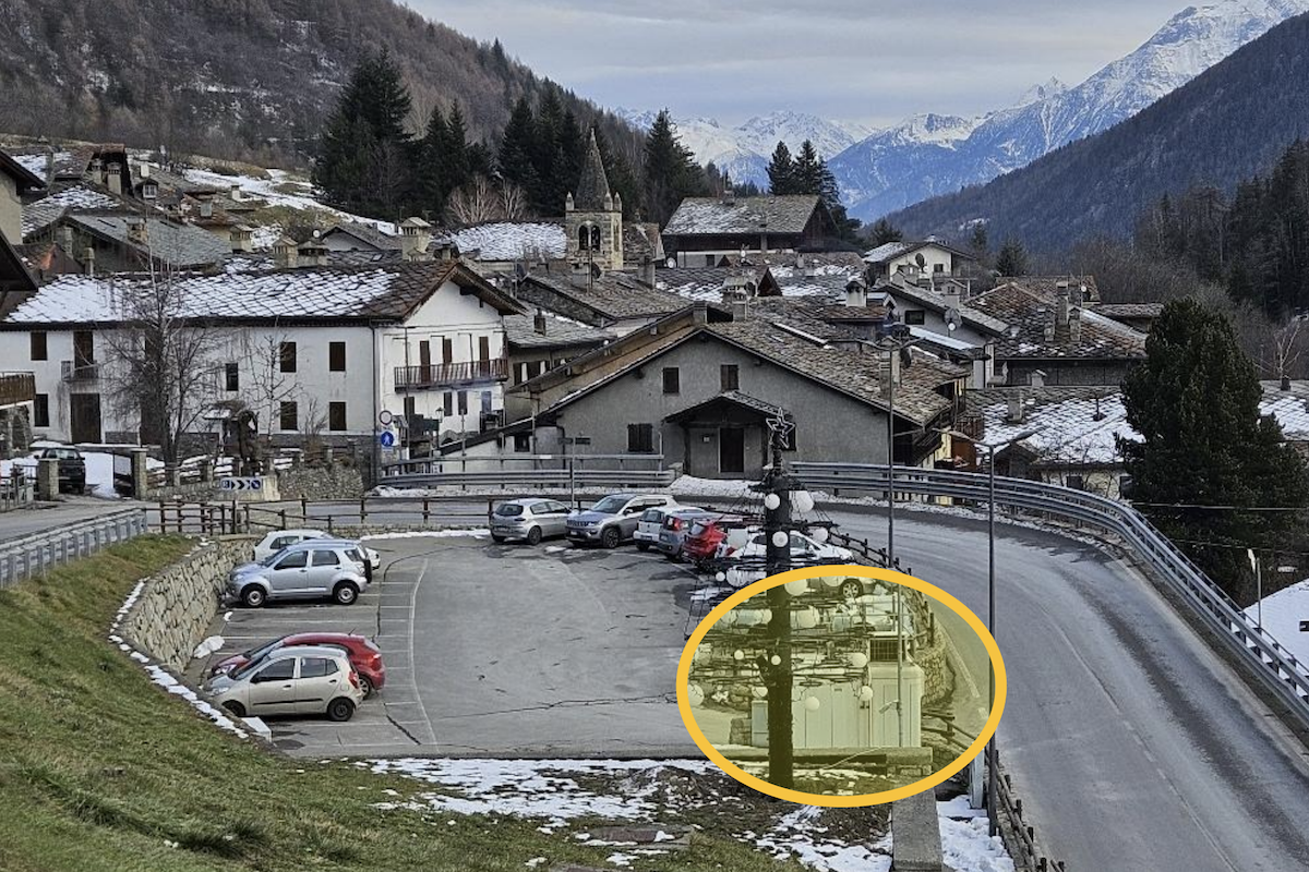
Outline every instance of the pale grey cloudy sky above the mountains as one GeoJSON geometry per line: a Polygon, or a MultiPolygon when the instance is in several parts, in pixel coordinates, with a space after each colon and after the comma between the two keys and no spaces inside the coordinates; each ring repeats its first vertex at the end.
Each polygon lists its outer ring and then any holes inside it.
{"type": "Polygon", "coordinates": [[[882,127],[1076,85],[1186,0],[408,0],[607,107],[738,124],[779,109],[882,127]]]}

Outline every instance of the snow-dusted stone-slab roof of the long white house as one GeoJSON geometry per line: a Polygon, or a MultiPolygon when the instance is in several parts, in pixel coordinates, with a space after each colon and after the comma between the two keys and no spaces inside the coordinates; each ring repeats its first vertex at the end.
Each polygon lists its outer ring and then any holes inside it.
{"type": "MultiPolygon", "coordinates": [[[[512,301],[457,263],[183,273],[171,280],[171,293],[179,301],[181,318],[399,319],[446,278],[476,284],[501,311],[516,310],[512,301]]],[[[148,289],[149,281],[141,275],[59,276],[18,306],[5,324],[115,323],[123,316],[124,294],[148,289]]]]}

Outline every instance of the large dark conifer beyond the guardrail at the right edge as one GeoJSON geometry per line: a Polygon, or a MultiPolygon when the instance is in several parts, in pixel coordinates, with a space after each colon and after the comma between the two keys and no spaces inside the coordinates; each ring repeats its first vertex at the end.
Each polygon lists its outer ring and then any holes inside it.
{"type": "Polygon", "coordinates": [[[1194,299],[1170,302],[1145,350],[1123,386],[1127,421],[1141,435],[1119,439],[1132,501],[1247,604],[1244,549],[1291,549],[1301,539],[1299,512],[1254,509],[1309,506],[1304,461],[1276,421],[1261,417],[1258,375],[1224,314],[1194,299]]]}

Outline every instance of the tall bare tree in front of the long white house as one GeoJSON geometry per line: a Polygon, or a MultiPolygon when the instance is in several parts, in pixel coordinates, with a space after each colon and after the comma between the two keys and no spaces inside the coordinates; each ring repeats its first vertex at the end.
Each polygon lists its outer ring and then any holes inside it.
{"type": "Polygon", "coordinates": [[[143,442],[178,463],[182,441],[217,399],[215,361],[223,336],[187,309],[185,284],[168,269],[111,286],[119,327],[105,336],[103,383],[143,442]]]}

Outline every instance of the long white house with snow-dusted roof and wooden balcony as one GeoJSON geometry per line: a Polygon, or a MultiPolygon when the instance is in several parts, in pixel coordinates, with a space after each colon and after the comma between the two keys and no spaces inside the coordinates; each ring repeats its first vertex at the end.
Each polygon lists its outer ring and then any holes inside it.
{"type": "MultiPolygon", "coordinates": [[[[35,377],[38,431],[72,442],[137,439],[139,414],[115,400],[114,349],[124,299],[152,293],[151,281],[62,276],[0,320],[0,358],[35,377]]],[[[329,443],[372,444],[382,411],[404,418],[399,437],[412,443],[500,421],[509,375],[501,319],[524,310],[463,264],[192,272],[169,281],[175,316],[212,337],[199,400],[212,414],[198,434],[217,438],[220,421],[241,405],[285,444],[314,430],[329,443]]]]}

